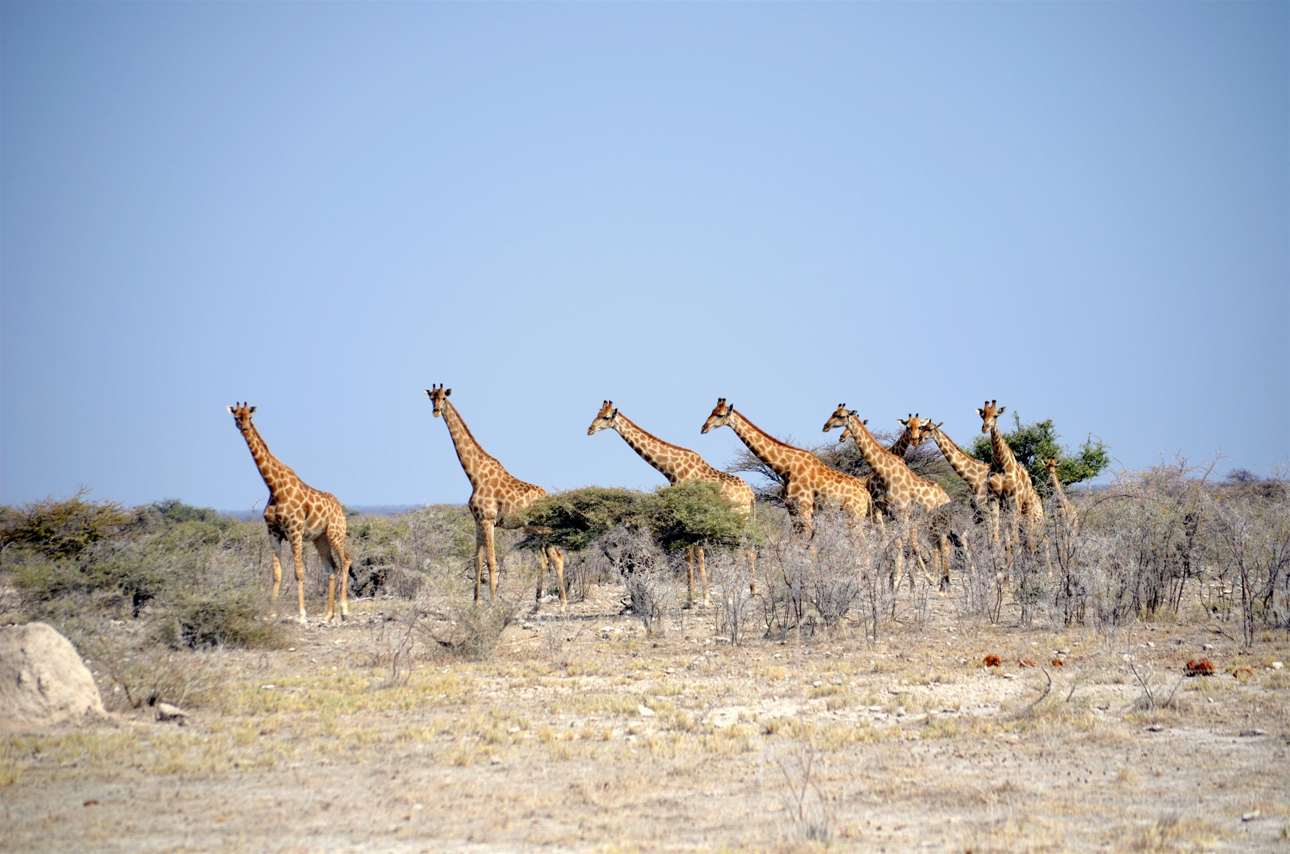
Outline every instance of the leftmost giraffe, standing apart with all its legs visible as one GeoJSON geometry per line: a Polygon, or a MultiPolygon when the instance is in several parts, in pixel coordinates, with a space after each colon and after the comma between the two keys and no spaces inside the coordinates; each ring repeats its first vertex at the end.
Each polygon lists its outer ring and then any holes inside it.
{"type": "Polygon", "coordinates": [[[301,624],[308,623],[304,617],[304,541],[313,543],[328,570],[326,619],[335,617],[335,575],[341,571],[341,619],[350,615],[350,557],[344,550],[344,510],[332,493],[313,489],[301,480],[290,467],[284,466],[270,453],[268,445],[261,437],[250,417],[254,406],[237,404],[230,406],[237,430],[241,431],[250,455],[255,459],[259,476],[268,486],[268,504],[264,506],[264,525],[273,538],[273,599],[283,583],[283,544],[292,543],[292,561],[295,564],[295,596],[299,600],[301,624]]]}

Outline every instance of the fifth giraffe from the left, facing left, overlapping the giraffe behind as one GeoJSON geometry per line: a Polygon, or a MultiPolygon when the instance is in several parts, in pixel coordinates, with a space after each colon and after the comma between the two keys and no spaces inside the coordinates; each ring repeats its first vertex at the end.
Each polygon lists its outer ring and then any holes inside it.
{"type": "MultiPolygon", "coordinates": [[[[864,455],[864,462],[873,471],[871,475],[871,490],[875,494],[873,503],[881,513],[908,522],[912,504],[918,503],[926,512],[934,515],[933,534],[937,538],[937,553],[934,559],[937,579],[942,590],[947,588],[949,586],[949,535],[947,520],[943,517],[940,508],[949,503],[949,495],[942,489],[940,484],[915,475],[904,459],[878,445],[868,427],[864,426],[864,422],[855,415],[855,410],[848,409],[846,404],[838,404],[829,419],[824,422],[824,432],[837,427],[850,428],[851,437],[855,439],[857,446],[864,455]]],[[[907,542],[913,543],[915,553],[917,555],[917,530],[909,529],[907,535],[907,542]]],[[[902,544],[900,557],[898,557],[897,562],[897,578],[899,578],[900,561],[903,561],[903,548],[902,544]]],[[[921,555],[918,555],[918,562],[922,564],[921,555]]],[[[926,573],[925,565],[924,573],[926,573]]]]}

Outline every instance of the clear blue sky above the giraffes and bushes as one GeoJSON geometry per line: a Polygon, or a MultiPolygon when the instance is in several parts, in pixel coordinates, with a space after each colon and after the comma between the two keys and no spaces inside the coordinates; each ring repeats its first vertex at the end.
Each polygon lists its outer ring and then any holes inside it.
{"type": "Polygon", "coordinates": [[[0,499],[350,504],[998,399],[1290,458],[1290,5],[0,6],[0,499]]]}

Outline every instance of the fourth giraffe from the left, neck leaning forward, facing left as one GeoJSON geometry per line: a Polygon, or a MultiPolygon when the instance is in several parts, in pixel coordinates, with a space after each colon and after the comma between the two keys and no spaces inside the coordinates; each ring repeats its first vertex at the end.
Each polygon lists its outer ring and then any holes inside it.
{"type": "Polygon", "coordinates": [[[716,408],[703,422],[703,430],[699,432],[706,433],[717,427],[730,427],[748,450],[779,476],[784,484],[784,506],[799,533],[811,533],[815,504],[824,499],[840,502],[857,522],[869,515],[872,507],[869,490],[859,477],[829,468],[809,450],[771,439],[735,412],[725,397],[717,400],[716,408]]]}

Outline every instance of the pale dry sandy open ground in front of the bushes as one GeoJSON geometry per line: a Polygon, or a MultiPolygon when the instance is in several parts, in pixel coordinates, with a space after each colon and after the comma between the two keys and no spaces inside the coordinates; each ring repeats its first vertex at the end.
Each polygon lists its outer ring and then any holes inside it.
{"type": "Polygon", "coordinates": [[[1241,655],[1213,624],[973,627],[934,596],[876,641],[731,646],[703,611],[645,636],[620,601],[410,673],[382,601],[194,654],[218,686],[183,726],[3,742],[0,849],[1290,851],[1284,632],[1241,655]],[[1200,655],[1218,675],[1183,679],[1200,655]],[[1130,663],[1167,708],[1134,707],[1130,663]]]}

